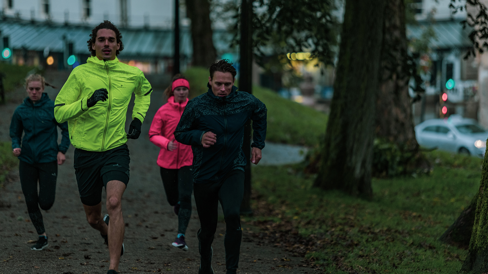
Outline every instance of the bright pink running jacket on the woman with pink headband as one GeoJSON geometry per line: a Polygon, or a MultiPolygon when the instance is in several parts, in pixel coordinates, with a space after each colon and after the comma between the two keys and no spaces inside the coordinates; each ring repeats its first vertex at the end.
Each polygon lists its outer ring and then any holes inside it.
{"type": "Polygon", "coordinates": [[[160,167],[180,169],[193,164],[191,146],[176,142],[173,135],[186,103],[188,103],[188,98],[183,103],[175,103],[174,97],[171,96],[168,98],[168,103],[160,107],[154,115],[149,129],[149,140],[161,148],[157,161],[160,167]],[[169,151],[167,147],[170,141],[174,141],[178,148],[169,151]]]}

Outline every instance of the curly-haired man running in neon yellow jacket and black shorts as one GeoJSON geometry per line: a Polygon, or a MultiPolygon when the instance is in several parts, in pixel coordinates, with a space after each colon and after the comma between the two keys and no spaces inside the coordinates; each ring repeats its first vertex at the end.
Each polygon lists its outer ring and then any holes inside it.
{"type": "Polygon", "coordinates": [[[88,223],[108,244],[110,266],[117,273],[124,252],[122,194],[129,181],[127,138],[137,139],[149,107],[151,85],[141,70],[119,62],[122,35],[105,20],[92,30],[88,49],[92,57],[71,72],[55,101],[54,116],[68,121],[75,149],[74,167],[88,223]],[[129,133],[125,116],[132,93],[135,106],[129,133]],[[108,214],[102,217],[102,188],[108,214]],[[110,221],[109,221],[110,220],[110,221]]]}

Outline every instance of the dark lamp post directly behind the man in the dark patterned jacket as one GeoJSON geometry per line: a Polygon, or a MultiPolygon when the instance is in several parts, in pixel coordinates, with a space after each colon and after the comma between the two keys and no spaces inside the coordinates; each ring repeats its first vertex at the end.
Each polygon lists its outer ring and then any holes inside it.
{"type": "MultiPolygon", "coordinates": [[[[252,94],[252,0],[242,0],[239,90],[252,94]]],[[[252,215],[251,199],[251,120],[244,127],[243,150],[247,159],[244,168],[244,199],[241,215],[252,215]]]]}

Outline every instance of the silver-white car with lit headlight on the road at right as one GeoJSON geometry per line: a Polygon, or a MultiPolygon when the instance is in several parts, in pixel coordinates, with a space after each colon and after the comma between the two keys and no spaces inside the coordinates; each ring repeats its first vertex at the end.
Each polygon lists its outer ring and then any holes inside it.
{"type": "Polygon", "coordinates": [[[438,148],[485,157],[488,132],[474,119],[451,115],[444,119],[429,119],[415,126],[417,142],[426,148],[438,148]]]}

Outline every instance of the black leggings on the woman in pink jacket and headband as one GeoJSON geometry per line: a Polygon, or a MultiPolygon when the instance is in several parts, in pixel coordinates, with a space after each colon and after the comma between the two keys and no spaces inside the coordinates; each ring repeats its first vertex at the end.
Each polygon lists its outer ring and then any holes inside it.
{"type": "Polygon", "coordinates": [[[193,192],[191,166],[180,169],[160,167],[160,173],[168,203],[172,206],[180,203],[178,233],[185,234],[191,217],[191,193],[193,192]]]}

